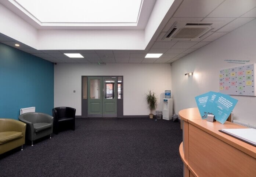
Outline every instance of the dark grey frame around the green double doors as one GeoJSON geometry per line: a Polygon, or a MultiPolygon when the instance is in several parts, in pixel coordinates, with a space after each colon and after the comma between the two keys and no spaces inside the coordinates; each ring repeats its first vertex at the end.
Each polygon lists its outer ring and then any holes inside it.
{"type": "MultiPolygon", "coordinates": [[[[83,99],[83,77],[87,77],[87,83],[88,83],[88,77],[116,77],[118,80],[118,77],[122,78],[122,87],[121,87],[121,98],[117,98],[117,106],[116,106],[116,117],[123,117],[123,87],[124,87],[124,81],[122,75],[116,75],[116,76],[95,76],[95,75],[82,75],[81,76],[81,117],[82,118],[88,118],[88,87],[86,89],[87,98],[83,99]]],[[[117,83],[118,84],[118,83],[117,83]]]]}

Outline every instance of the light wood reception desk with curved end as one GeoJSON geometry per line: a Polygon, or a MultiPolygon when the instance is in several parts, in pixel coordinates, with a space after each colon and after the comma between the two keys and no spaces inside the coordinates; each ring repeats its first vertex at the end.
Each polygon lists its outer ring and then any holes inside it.
{"type": "Polygon", "coordinates": [[[185,177],[256,176],[256,147],[219,132],[246,127],[202,120],[198,108],[181,110],[179,116],[183,121],[180,157],[185,177]]]}

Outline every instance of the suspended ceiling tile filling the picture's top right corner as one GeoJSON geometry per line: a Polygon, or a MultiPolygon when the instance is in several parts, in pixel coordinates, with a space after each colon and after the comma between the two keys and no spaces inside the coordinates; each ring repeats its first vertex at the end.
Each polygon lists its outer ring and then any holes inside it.
{"type": "Polygon", "coordinates": [[[254,7],[255,0],[226,0],[207,17],[239,17],[254,7]]]}

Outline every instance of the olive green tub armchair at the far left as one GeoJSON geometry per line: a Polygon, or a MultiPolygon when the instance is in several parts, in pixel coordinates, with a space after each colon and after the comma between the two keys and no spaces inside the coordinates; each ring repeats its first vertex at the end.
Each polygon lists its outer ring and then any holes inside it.
{"type": "Polygon", "coordinates": [[[11,118],[0,118],[0,154],[25,144],[26,124],[11,118]]]}

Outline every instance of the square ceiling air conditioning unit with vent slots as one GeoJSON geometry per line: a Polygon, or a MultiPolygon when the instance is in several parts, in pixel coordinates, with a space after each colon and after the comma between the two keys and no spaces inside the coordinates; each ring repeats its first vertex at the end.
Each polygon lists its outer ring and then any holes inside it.
{"type": "Polygon", "coordinates": [[[214,30],[217,22],[175,22],[162,41],[172,40],[196,40],[214,30]]]}

